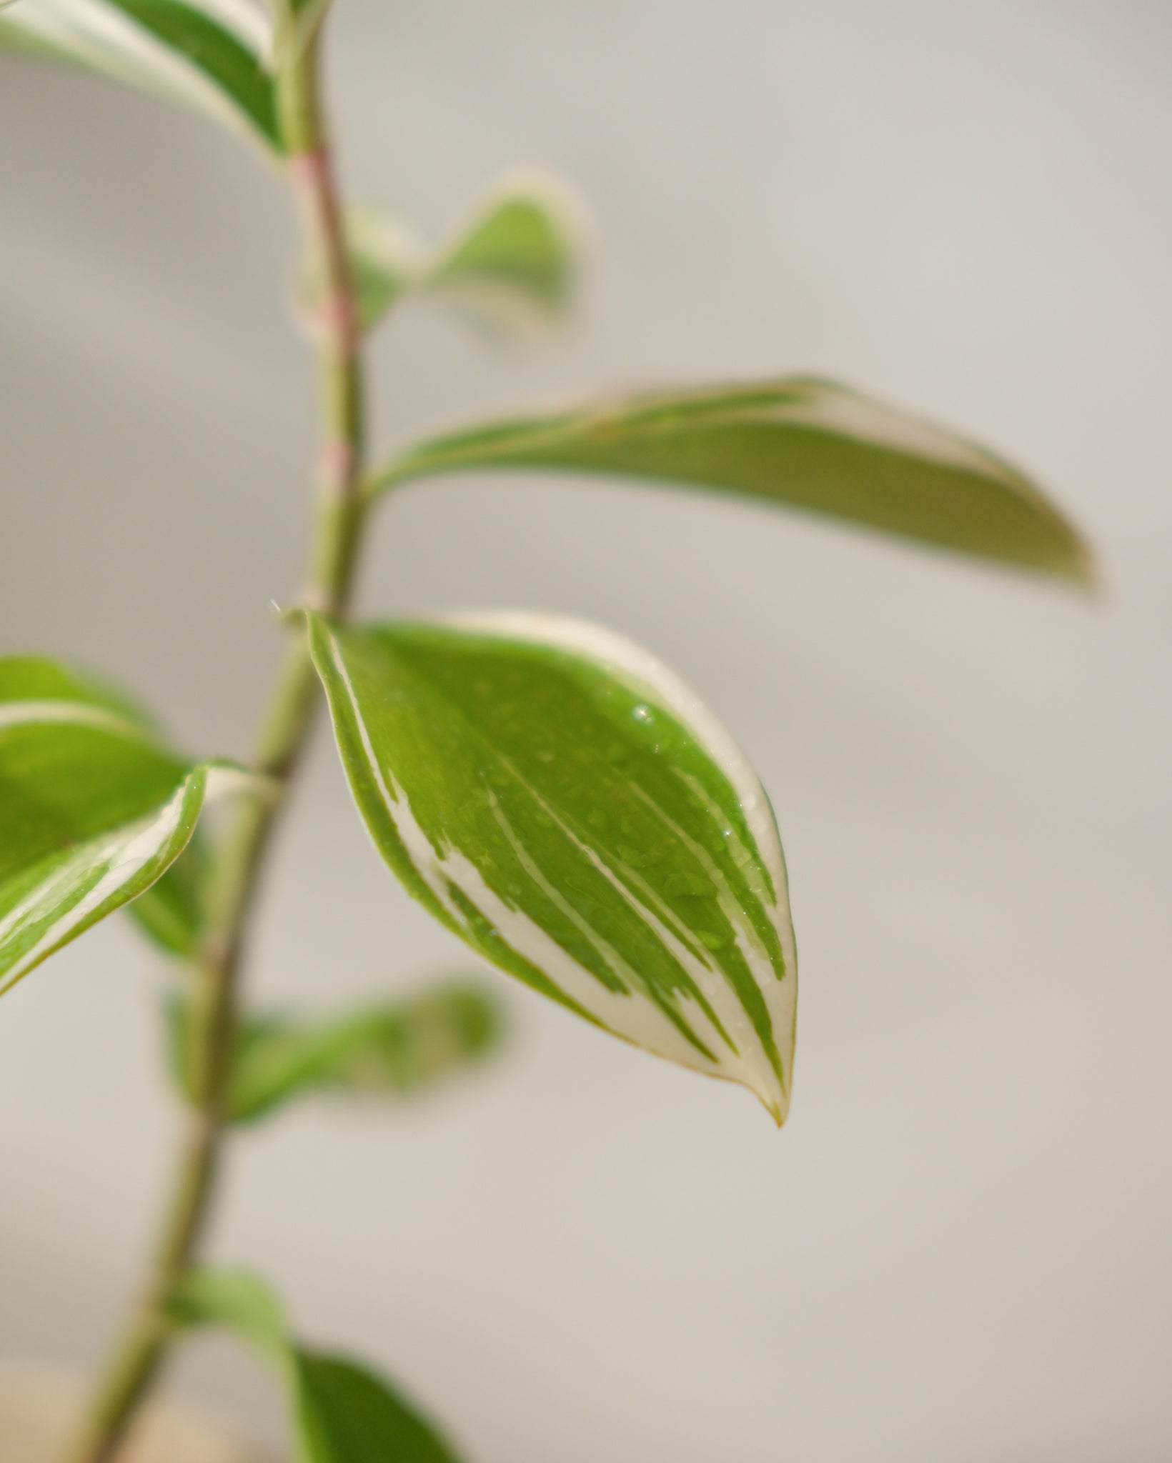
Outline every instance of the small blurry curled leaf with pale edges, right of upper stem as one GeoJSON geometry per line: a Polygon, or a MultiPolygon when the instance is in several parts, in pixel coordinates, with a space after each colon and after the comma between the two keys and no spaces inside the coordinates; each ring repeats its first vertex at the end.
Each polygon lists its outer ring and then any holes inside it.
{"type": "Polygon", "coordinates": [[[492,335],[541,338],[572,307],[581,219],[569,190],[537,173],[497,184],[435,255],[386,209],[351,209],[347,240],[361,325],[373,329],[408,294],[427,294],[492,335]]]}

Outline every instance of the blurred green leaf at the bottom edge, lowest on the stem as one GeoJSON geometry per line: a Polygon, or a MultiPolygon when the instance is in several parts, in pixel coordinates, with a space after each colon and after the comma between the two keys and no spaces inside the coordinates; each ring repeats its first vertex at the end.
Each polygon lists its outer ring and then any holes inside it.
{"type": "Polygon", "coordinates": [[[256,1276],[190,1271],[168,1311],[177,1325],[233,1331],[277,1372],[297,1463],[457,1463],[436,1428],[385,1381],[356,1362],[301,1347],[277,1295],[256,1276]]]}

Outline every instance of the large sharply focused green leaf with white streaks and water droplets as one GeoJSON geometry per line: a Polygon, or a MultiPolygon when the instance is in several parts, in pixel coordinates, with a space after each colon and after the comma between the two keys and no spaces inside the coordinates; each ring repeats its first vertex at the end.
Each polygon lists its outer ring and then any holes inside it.
{"type": "Polygon", "coordinates": [[[695,692],[575,620],[307,619],[354,800],[408,891],[533,989],[784,1121],[781,844],[695,692]]]}

